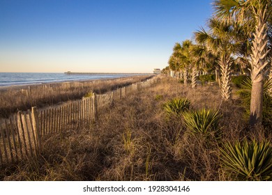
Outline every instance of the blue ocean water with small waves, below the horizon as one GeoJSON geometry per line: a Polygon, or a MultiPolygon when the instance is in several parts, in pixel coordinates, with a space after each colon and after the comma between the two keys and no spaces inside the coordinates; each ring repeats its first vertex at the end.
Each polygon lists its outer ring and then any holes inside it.
{"type": "Polygon", "coordinates": [[[92,75],[65,75],[64,73],[22,73],[0,72],[1,86],[22,86],[32,84],[48,84],[64,81],[84,81],[93,79],[113,79],[122,76],[92,76],[92,75]]]}

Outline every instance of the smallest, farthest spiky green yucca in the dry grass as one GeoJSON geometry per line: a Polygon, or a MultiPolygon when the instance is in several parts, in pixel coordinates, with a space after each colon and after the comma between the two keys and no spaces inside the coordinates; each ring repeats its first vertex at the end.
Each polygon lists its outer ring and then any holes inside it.
{"type": "Polygon", "coordinates": [[[188,111],[189,108],[190,100],[187,98],[174,98],[163,104],[163,109],[168,115],[181,116],[183,111],[188,111]]]}

